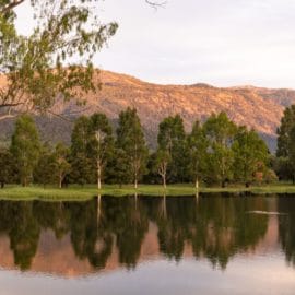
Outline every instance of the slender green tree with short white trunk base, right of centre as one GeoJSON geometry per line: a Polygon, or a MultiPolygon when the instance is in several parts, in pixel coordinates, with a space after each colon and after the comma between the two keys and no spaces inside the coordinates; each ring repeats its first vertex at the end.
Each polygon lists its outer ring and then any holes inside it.
{"type": "Polygon", "coordinates": [[[199,121],[196,121],[188,137],[189,170],[193,177],[196,189],[199,189],[200,178],[204,178],[208,166],[209,141],[199,121]]]}

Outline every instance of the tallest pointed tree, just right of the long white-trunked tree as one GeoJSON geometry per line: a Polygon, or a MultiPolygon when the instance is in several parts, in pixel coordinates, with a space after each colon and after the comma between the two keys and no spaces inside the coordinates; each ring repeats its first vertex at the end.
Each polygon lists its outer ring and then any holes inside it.
{"type": "Polygon", "coordinates": [[[119,115],[117,148],[121,149],[129,160],[134,188],[137,189],[139,180],[146,173],[149,150],[145,144],[140,118],[134,108],[128,107],[119,115]]]}

